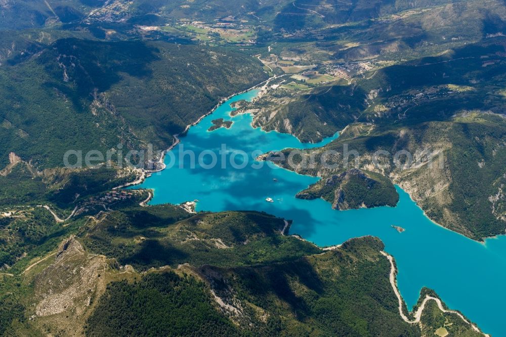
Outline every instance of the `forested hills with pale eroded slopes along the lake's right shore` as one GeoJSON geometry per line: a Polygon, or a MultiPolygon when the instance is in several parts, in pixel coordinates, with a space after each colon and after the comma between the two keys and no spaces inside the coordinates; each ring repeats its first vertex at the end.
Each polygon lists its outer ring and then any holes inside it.
{"type": "MultiPolygon", "coordinates": [[[[328,170],[320,162],[295,170],[323,177],[340,173],[345,169],[342,154],[347,144],[349,150],[360,153],[358,168],[390,177],[434,221],[476,239],[501,234],[506,228],[501,165],[506,135],[504,46],[503,37],[491,38],[437,57],[377,70],[371,78],[357,79],[353,85],[318,88],[289,103],[266,125],[274,123],[282,130],[282,125],[290,124],[292,133],[300,130],[301,137],[327,136],[324,132],[333,121],[332,115],[347,115],[348,111],[354,120],[339,125],[344,128],[349,124],[341,137],[315,150],[320,154],[338,151],[341,156],[331,158],[330,163],[340,167],[328,170]],[[348,93],[349,99],[366,104],[362,110],[354,104],[334,105],[336,93],[348,93]],[[318,122],[314,116],[290,113],[308,104],[318,111],[318,122]],[[275,122],[282,118],[289,122],[275,122]],[[382,157],[386,162],[381,167],[373,165],[373,154],[378,150],[391,154],[382,157]],[[413,156],[409,170],[394,162],[394,154],[400,150],[413,156]],[[429,165],[424,157],[427,151],[439,164],[429,165]]],[[[265,106],[261,101],[260,115],[269,111],[265,106]]],[[[263,120],[260,116],[256,119],[263,120]]],[[[331,132],[336,130],[338,127],[331,132]]]]}

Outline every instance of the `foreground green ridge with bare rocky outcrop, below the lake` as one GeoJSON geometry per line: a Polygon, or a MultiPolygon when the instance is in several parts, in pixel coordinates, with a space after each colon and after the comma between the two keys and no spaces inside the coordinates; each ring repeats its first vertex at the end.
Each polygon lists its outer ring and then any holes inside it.
{"type": "Polygon", "coordinates": [[[324,251],[282,236],[283,221],[265,214],[190,217],[168,205],[78,223],[45,260],[2,276],[2,333],[419,336],[442,326],[402,320],[376,238],[324,251]],[[117,260],[136,250],[144,273],[117,260]]]}

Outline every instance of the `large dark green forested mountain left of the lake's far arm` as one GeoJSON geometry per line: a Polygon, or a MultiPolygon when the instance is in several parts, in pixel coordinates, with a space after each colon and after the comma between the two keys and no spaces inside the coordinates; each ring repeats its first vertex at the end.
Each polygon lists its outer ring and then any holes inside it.
{"type": "Polygon", "coordinates": [[[0,77],[1,162],[15,152],[52,167],[69,149],[165,149],[221,98],[267,75],[230,51],[70,38],[1,67],[0,77]]]}

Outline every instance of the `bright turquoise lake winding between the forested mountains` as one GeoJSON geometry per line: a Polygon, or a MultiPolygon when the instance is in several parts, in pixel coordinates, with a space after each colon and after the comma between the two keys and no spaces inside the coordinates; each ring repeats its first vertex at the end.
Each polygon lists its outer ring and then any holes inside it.
{"type": "MultiPolygon", "coordinates": [[[[244,168],[230,164],[222,168],[219,154],[222,144],[230,151],[226,156],[228,162],[235,150],[246,153],[258,150],[256,157],[284,148],[319,147],[338,137],[335,135],[319,144],[304,144],[291,135],[251,128],[249,114],[230,117],[230,103],[251,100],[257,94],[254,90],[233,97],[181,138],[183,148],[177,146],[165,157],[168,166],[171,162],[176,164],[136,187],[154,189],[150,204],[198,199],[197,210],[263,210],[293,220],[290,234],[300,234],[320,246],[363,235],[377,236],[397,261],[398,286],[408,308],[416,303],[420,289],[427,286],[436,290],[451,309],[460,310],[486,333],[506,336],[505,236],[479,243],[444,229],[430,221],[399,187],[400,200],[396,207],[338,211],[321,199],[308,201],[294,197],[318,178],[298,175],[271,163],[258,163],[251,157],[244,168]],[[207,132],[216,118],[234,123],[230,129],[207,132]],[[182,162],[179,160],[181,152],[188,150],[194,151],[197,157],[204,150],[212,150],[217,154],[218,164],[206,169],[213,160],[207,153],[202,158],[203,165],[190,168],[190,155],[182,162]],[[179,168],[181,163],[183,168],[179,168]],[[252,164],[263,164],[263,167],[252,168],[252,164]],[[266,202],[267,197],[274,202],[266,202]],[[406,231],[398,233],[392,225],[406,231]]],[[[236,155],[235,162],[245,163],[241,155],[236,155]]]]}

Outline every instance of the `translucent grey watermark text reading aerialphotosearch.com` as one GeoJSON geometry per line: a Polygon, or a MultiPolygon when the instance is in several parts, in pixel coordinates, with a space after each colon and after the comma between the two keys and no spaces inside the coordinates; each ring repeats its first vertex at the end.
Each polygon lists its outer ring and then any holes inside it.
{"type": "MultiPolygon", "coordinates": [[[[158,158],[163,157],[158,153],[158,158]]],[[[213,170],[215,168],[233,168],[241,170],[245,167],[261,169],[264,165],[279,168],[278,165],[291,168],[292,170],[304,170],[311,167],[322,167],[328,170],[347,170],[349,168],[363,168],[362,166],[374,166],[377,170],[386,170],[395,167],[400,170],[409,170],[422,164],[441,165],[443,160],[441,153],[428,149],[419,149],[414,153],[408,150],[398,150],[392,153],[387,150],[377,150],[361,154],[351,149],[348,144],[343,144],[338,150],[297,150],[264,153],[262,150],[246,152],[231,149],[227,144],[221,144],[219,149],[205,149],[195,151],[186,149],[184,144],[178,144],[164,153],[163,163],[154,162],[155,151],[149,145],[147,150],[123,151],[121,144],[117,149],[102,153],[98,150],[83,152],[81,150],[68,150],[63,156],[63,163],[68,168],[96,167],[97,164],[106,163],[115,167],[135,167],[146,171],[159,171],[161,168],[190,169],[199,168],[213,170]],[[124,152],[124,153],[123,153],[124,152]],[[277,163],[277,164],[276,164],[277,163]]]]}

